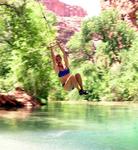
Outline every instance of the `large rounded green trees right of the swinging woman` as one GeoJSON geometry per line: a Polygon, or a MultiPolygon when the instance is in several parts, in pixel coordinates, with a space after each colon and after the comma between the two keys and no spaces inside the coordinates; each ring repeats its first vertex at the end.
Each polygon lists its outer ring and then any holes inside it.
{"type": "Polygon", "coordinates": [[[137,100],[137,46],[137,34],[115,10],[83,23],[68,47],[78,56],[72,62],[74,68],[80,63],[79,70],[86,77],[85,87],[90,91],[87,100],[137,100]],[[93,41],[97,40],[100,43],[95,50],[93,41]]]}

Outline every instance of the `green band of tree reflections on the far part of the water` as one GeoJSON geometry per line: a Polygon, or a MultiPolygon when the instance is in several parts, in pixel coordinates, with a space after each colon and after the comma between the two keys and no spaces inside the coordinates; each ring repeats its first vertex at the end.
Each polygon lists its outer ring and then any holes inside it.
{"type": "Polygon", "coordinates": [[[97,129],[136,122],[129,107],[50,103],[40,109],[0,110],[0,130],[97,129]],[[127,118],[127,119],[126,119],[127,118]],[[129,122],[128,122],[129,120],[129,122]]]}

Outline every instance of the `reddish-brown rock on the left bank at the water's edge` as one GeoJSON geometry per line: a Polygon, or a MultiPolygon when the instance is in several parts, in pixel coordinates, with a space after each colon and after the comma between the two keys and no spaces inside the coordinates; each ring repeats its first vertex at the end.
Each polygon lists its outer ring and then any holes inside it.
{"type": "Polygon", "coordinates": [[[40,105],[33,96],[27,94],[21,87],[16,87],[14,91],[9,93],[0,93],[0,107],[32,108],[40,105]]]}

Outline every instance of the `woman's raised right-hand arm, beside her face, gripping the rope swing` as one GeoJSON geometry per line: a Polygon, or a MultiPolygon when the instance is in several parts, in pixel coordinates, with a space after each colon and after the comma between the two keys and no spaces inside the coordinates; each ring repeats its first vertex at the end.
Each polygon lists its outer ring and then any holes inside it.
{"type": "Polygon", "coordinates": [[[65,51],[64,47],[61,46],[60,42],[57,42],[57,45],[59,46],[60,50],[63,53],[64,62],[65,62],[66,68],[69,68],[69,61],[68,61],[68,54],[67,54],[67,52],[65,51]]]}

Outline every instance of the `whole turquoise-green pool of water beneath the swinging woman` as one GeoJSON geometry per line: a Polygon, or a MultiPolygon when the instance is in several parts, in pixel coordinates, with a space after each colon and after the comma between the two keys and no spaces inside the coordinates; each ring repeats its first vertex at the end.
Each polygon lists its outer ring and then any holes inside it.
{"type": "Polygon", "coordinates": [[[0,110],[0,150],[137,150],[138,107],[51,103],[0,110]]]}

